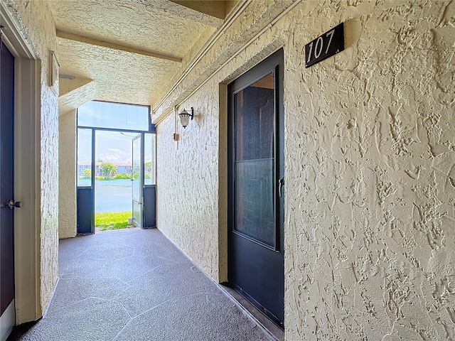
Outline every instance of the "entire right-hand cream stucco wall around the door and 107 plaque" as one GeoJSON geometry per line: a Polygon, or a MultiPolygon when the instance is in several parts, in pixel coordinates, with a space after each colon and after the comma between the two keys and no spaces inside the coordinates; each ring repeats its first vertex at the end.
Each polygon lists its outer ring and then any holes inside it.
{"type": "Polygon", "coordinates": [[[453,340],[453,1],[294,7],[184,103],[199,116],[181,141],[159,124],[159,228],[217,278],[218,83],[277,45],[287,340],[453,340]],[[346,50],[305,69],[304,44],[340,22],[346,50]]]}

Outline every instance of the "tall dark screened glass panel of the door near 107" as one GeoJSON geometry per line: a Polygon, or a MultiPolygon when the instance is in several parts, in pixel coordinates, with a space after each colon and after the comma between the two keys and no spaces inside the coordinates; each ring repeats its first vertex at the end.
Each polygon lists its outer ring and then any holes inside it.
{"type": "Polygon", "coordinates": [[[234,95],[235,230],[275,247],[274,74],[234,95]]]}

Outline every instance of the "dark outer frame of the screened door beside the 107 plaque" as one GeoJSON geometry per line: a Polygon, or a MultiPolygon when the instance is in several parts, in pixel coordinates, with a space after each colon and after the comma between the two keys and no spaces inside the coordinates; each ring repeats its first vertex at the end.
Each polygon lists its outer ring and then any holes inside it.
{"type": "MultiPolygon", "coordinates": [[[[238,77],[235,81],[231,82],[228,85],[228,286],[234,288],[242,296],[247,298],[250,303],[259,308],[259,311],[264,313],[270,320],[277,324],[280,328],[284,330],[284,198],[279,197],[278,181],[281,178],[284,178],[284,51],[283,49],[278,50],[269,58],[266,58],[261,63],[253,67],[251,70],[245,72],[244,75],[238,77]],[[235,278],[233,277],[233,266],[234,262],[232,260],[234,242],[233,236],[235,235],[235,220],[234,220],[234,209],[235,209],[235,122],[234,115],[232,114],[232,108],[234,107],[234,94],[240,92],[241,90],[249,87],[262,77],[266,76],[270,72],[274,72],[275,82],[275,101],[276,101],[276,112],[277,120],[274,122],[274,131],[276,134],[276,140],[274,143],[274,155],[277,156],[275,159],[275,190],[274,190],[274,200],[277,204],[277,215],[275,217],[276,223],[279,226],[276,236],[276,244],[274,246],[274,251],[282,254],[282,273],[279,275],[282,277],[282,297],[279,299],[282,300],[282,314],[281,316],[274,315],[270,313],[267,308],[264,308],[259,302],[255,301],[254,298],[249,296],[247,293],[243,292],[241,288],[235,287],[235,278]],[[237,83],[237,85],[236,85],[237,83]]],[[[243,236],[245,237],[245,236],[243,236]]],[[[247,237],[246,237],[247,238],[247,237]]],[[[257,241],[254,241],[257,243],[257,241]]],[[[260,244],[260,243],[258,243],[260,244]]],[[[264,247],[268,247],[264,245],[264,247]]],[[[270,248],[270,247],[268,247],[270,248]]],[[[281,295],[281,294],[280,294],[281,295]]]]}

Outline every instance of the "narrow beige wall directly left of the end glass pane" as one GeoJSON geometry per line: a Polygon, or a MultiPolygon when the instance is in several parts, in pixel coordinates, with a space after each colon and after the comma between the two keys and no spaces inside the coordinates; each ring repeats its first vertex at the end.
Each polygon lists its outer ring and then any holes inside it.
{"type": "Polygon", "coordinates": [[[58,124],[58,237],[62,239],[77,234],[76,110],[60,113],[58,124]]]}

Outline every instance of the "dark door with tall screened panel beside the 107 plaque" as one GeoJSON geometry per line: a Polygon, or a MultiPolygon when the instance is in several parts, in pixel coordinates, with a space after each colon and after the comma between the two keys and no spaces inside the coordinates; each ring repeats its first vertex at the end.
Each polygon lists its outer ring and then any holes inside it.
{"type": "Polygon", "coordinates": [[[283,71],[279,50],[228,87],[228,282],[282,328],[283,71]]]}

